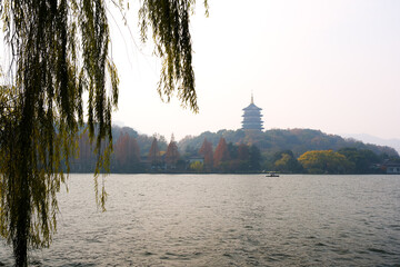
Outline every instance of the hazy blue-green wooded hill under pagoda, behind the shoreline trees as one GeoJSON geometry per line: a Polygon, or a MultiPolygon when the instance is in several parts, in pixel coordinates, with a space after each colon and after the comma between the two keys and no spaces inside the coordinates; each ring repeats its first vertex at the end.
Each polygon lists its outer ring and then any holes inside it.
{"type": "Polygon", "coordinates": [[[377,155],[399,156],[390,147],[363,144],[356,139],[344,139],[337,135],[328,135],[320,130],[311,129],[272,129],[263,132],[244,130],[206,131],[197,137],[186,137],[178,142],[181,151],[199,150],[204,138],[217,146],[223,137],[227,142],[256,145],[264,155],[272,155],[282,150],[291,150],[296,157],[311,150],[339,150],[341,148],[369,149],[377,155]]]}

